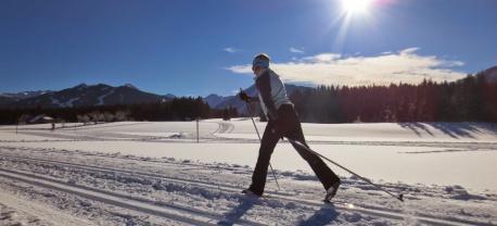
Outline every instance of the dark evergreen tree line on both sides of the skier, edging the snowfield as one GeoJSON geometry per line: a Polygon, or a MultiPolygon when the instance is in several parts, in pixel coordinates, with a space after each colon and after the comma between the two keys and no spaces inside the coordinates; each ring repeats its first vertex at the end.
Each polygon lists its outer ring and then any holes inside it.
{"type": "MultiPolygon", "coordinates": [[[[497,83],[485,74],[455,83],[424,79],[418,85],[318,86],[296,89],[291,101],[305,123],[497,122],[497,83]]],[[[253,112],[259,112],[255,108],[253,112]]],[[[248,116],[234,106],[212,109],[202,97],[136,104],[62,109],[0,109],[0,124],[22,115],[47,114],[58,122],[192,121],[248,116]]],[[[264,121],[264,114],[259,114],[264,121]]]]}

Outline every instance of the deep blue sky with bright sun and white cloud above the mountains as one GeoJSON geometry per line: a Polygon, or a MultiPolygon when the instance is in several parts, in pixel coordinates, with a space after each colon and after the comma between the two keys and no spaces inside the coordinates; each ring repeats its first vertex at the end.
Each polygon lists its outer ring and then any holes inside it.
{"type": "Polygon", "coordinates": [[[497,65],[497,0],[0,0],[0,92],[81,83],[176,96],[288,83],[453,81],[497,65]],[[360,3],[358,3],[360,4],[360,3]]]}

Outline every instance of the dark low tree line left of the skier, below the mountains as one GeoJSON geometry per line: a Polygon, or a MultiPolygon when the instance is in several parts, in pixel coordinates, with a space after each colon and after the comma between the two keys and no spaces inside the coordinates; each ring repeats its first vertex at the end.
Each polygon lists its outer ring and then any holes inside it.
{"type": "Polygon", "coordinates": [[[238,117],[233,106],[217,110],[205,103],[202,97],[176,98],[163,102],[135,104],[93,105],[78,108],[0,109],[0,124],[17,124],[22,115],[46,114],[58,123],[115,122],[115,121],[193,121],[196,118],[238,117]]]}

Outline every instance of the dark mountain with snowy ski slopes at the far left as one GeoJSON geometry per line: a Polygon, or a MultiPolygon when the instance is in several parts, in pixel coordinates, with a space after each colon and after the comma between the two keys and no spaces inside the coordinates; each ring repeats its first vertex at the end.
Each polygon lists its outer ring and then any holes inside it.
{"type": "Polygon", "coordinates": [[[126,84],[112,87],[105,84],[80,84],[61,91],[43,93],[1,104],[3,108],[71,108],[85,105],[106,105],[117,103],[140,103],[167,100],[167,98],[144,92],[126,84]]]}

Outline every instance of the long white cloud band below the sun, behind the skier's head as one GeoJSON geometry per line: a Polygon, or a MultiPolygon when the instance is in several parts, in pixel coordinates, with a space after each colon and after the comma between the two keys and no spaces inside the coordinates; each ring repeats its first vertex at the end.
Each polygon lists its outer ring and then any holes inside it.
{"type": "MultiPolygon", "coordinates": [[[[314,85],[390,85],[419,84],[423,78],[434,81],[454,81],[466,73],[451,67],[462,66],[461,61],[441,60],[433,55],[417,54],[418,48],[398,52],[382,52],[377,56],[342,56],[335,53],[293,58],[292,62],[272,63],[283,80],[314,85]]],[[[233,73],[251,74],[250,64],[227,67],[233,73]]]]}

